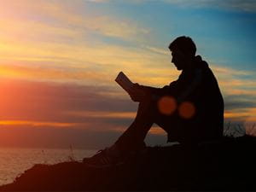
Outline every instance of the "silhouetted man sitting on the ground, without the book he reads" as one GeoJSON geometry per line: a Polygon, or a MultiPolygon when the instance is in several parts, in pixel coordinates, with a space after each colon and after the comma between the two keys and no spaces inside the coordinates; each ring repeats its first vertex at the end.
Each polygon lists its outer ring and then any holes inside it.
{"type": "Polygon", "coordinates": [[[122,163],[143,142],[155,123],[168,134],[167,142],[193,147],[218,140],[223,135],[224,101],[211,69],[189,37],[178,37],[170,45],[172,63],[182,71],[176,81],[163,88],[134,84],[131,100],[139,102],[137,117],[110,148],[84,160],[90,166],[122,163]]]}

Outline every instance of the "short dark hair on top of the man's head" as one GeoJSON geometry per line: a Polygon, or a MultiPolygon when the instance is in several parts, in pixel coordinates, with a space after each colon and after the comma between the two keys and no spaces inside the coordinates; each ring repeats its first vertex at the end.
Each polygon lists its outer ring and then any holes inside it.
{"type": "Polygon", "coordinates": [[[172,43],[169,45],[169,49],[172,51],[175,48],[180,49],[185,54],[195,56],[195,43],[189,37],[181,36],[172,41],[172,43]]]}

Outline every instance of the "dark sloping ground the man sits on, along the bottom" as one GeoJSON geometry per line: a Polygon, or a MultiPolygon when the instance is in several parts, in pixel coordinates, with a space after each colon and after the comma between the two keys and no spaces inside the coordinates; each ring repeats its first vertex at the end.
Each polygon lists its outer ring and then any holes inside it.
{"type": "Polygon", "coordinates": [[[256,137],[224,138],[188,150],[148,148],[123,166],[96,169],[80,162],[35,165],[0,190],[253,190],[256,137]]]}

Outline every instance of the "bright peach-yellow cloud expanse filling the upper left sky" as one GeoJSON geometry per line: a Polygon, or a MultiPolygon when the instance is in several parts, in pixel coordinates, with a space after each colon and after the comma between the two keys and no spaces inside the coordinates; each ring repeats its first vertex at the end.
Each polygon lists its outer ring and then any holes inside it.
{"type": "Polygon", "coordinates": [[[2,3],[0,73],[3,77],[109,85],[124,70],[135,81],[156,86],[169,82],[170,74],[176,78],[174,70],[170,73],[166,70],[169,61],[160,55],[165,52],[159,48],[104,44],[90,36],[101,34],[137,44],[138,40],[147,39],[148,29],[134,20],[88,14],[86,9],[86,1],[85,4],[40,0],[2,3]],[[164,67],[160,68],[158,62],[164,67]]]}

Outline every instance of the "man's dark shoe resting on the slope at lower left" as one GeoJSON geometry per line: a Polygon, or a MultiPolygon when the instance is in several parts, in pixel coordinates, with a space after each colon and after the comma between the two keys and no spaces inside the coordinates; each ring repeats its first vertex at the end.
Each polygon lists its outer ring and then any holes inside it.
{"type": "Polygon", "coordinates": [[[125,161],[120,157],[118,153],[113,153],[109,148],[99,150],[95,155],[90,158],[85,158],[83,163],[86,166],[91,166],[95,168],[104,168],[110,166],[120,166],[125,163],[125,161]]]}

